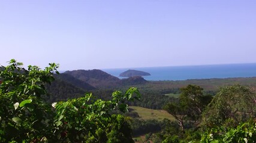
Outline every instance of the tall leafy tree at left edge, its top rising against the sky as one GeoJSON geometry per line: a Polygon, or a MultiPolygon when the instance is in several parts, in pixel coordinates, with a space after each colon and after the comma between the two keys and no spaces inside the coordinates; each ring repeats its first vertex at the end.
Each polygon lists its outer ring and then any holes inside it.
{"type": "Polygon", "coordinates": [[[53,123],[53,112],[41,95],[46,94],[44,85],[52,82],[58,65],[50,64],[44,70],[37,66],[22,68],[22,63],[11,60],[2,67],[0,78],[0,140],[3,142],[40,141],[52,138],[49,124],[53,123]]]}

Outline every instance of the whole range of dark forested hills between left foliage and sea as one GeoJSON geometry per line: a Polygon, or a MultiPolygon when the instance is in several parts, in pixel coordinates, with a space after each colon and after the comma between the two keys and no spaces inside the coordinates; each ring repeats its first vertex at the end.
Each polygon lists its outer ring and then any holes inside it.
{"type": "Polygon", "coordinates": [[[147,83],[147,80],[140,76],[121,80],[101,70],[67,71],[54,74],[54,77],[55,81],[46,87],[50,94],[49,97],[46,97],[49,102],[82,97],[86,92],[93,92],[98,98],[109,99],[109,95],[118,87],[147,83]]]}

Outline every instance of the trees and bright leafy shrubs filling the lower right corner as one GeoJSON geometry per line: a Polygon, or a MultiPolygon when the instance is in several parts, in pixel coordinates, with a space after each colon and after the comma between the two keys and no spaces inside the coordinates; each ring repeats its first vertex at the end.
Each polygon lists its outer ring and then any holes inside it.
{"type": "Polygon", "coordinates": [[[155,141],[256,142],[255,100],[256,92],[246,86],[220,88],[210,101],[200,86],[188,85],[182,88],[179,102],[164,107],[181,128],[167,126],[155,141]]]}

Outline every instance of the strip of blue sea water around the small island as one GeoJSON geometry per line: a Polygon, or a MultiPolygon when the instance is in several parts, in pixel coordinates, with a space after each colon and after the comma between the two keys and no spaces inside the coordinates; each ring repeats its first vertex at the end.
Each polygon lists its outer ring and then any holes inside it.
{"type": "MultiPolygon", "coordinates": [[[[151,76],[143,76],[146,80],[186,80],[210,79],[227,77],[256,77],[256,63],[249,64],[219,64],[203,66],[173,66],[173,67],[140,67],[124,69],[102,69],[113,76],[126,70],[141,70],[151,76]]],[[[120,79],[124,77],[119,77],[120,79]]]]}

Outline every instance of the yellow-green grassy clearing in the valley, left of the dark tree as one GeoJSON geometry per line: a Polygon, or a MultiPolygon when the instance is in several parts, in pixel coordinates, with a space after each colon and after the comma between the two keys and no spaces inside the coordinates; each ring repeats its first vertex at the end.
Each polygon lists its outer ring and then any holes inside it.
{"type": "Polygon", "coordinates": [[[153,110],[149,108],[143,108],[143,107],[137,107],[137,106],[129,106],[129,108],[132,109],[132,112],[137,112],[139,119],[143,120],[149,120],[149,119],[155,119],[155,120],[163,120],[165,118],[169,120],[175,120],[171,114],[168,114],[167,111],[164,110],[153,110]]]}

